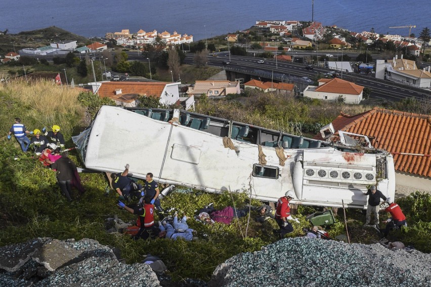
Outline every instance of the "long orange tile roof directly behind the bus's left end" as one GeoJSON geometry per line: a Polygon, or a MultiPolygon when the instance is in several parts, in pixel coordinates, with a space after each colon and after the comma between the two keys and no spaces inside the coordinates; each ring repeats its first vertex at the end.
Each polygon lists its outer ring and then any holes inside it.
{"type": "Polygon", "coordinates": [[[121,89],[121,94],[142,94],[147,97],[160,98],[167,83],[165,82],[103,82],[99,88],[99,97],[113,97],[115,90],[121,89]]]}

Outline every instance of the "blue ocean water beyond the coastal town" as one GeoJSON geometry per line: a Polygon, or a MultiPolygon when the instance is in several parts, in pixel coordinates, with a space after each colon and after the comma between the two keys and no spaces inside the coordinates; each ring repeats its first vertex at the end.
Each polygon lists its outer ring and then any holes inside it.
{"type": "MultiPolygon", "coordinates": [[[[351,31],[407,35],[431,28],[430,0],[414,4],[383,0],[315,0],[314,20],[351,31]]],[[[10,33],[57,26],[85,37],[129,29],[164,30],[193,35],[194,40],[233,33],[256,20],[311,21],[312,0],[3,0],[0,30],[10,33]]]]}

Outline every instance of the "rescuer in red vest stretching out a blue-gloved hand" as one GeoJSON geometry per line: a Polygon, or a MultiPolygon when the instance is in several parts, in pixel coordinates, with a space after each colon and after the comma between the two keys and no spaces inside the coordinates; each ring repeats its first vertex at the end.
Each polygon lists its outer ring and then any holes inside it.
{"type": "Polygon", "coordinates": [[[154,205],[151,204],[152,198],[149,196],[144,197],[144,205],[138,204],[134,208],[126,206],[121,201],[118,201],[118,206],[124,208],[128,212],[139,215],[140,228],[138,233],[133,237],[134,240],[139,238],[147,239],[149,237],[156,238],[159,233],[159,229],[154,225],[154,205]]]}

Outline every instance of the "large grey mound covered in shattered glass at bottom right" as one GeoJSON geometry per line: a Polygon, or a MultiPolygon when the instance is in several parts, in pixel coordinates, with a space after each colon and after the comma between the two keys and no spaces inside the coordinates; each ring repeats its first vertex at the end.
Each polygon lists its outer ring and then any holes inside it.
{"type": "Polygon", "coordinates": [[[380,244],[346,244],[286,238],[220,264],[209,287],[220,286],[426,286],[431,255],[389,250],[380,244]]]}

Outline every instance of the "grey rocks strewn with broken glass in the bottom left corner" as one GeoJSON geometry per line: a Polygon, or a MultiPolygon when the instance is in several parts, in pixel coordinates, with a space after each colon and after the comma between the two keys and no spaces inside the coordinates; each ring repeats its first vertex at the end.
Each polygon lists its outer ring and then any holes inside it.
{"type": "Polygon", "coordinates": [[[87,238],[37,238],[2,247],[0,269],[6,271],[0,286],[160,286],[148,264],[121,263],[109,247],[87,238]]]}

